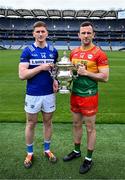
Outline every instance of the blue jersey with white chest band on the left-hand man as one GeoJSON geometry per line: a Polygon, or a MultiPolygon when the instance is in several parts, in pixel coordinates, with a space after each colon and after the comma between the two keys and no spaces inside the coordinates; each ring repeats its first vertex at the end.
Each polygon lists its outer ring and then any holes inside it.
{"type": "MultiPolygon", "coordinates": [[[[29,63],[29,69],[33,69],[43,63],[56,63],[57,58],[58,52],[52,46],[46,45],[46,47],[40,48],[32,44],[23,50],[20,62],[29,63]]],[[[52,93],[53,79],[49,71],[41,71],[27,80],[26,94],[43,96],[52,93]]]]}

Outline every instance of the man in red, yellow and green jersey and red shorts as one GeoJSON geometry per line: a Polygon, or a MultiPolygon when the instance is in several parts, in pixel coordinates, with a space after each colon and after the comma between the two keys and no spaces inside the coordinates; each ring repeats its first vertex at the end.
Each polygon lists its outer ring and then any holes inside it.
{"type": "Polygon", "coordinates": [[[73,115],[74,150],[63,158],[70,161],[81,156],[82,124],[87,130],[87,155],[80,166],[79,173],[88,172],[93,164],[92,153],[96,142],[96,113],[98,111],[98,82],[107,82],[109,78],[108,59],[99,47],[93,44],[94,27],[84,22],[78,33],[81,46],[70,54],[71,62],[77,67],[78,76],[73,80],[70,99],[73,115]]]}

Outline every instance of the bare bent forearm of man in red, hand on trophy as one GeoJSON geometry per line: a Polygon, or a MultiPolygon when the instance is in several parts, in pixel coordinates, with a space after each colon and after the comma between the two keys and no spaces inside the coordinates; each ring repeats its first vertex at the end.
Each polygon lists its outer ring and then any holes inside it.
{"type": "Polygon", "coordinates": [[[107,82],[109,79],[109,68],[99,68],[98,73],[93,73],[87,71],[85,66],[80,66],[78,69],[78,74],[81,76],[88,76],[96,81],[107,82]]]}

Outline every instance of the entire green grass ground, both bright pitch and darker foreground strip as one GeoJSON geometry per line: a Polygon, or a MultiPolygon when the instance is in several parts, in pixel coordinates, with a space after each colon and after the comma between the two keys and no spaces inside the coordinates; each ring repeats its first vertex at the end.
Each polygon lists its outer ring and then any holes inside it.
{"type": "MultiPolygon", "coordinates": [[[[110,80],[99,84],[94,166],[85,175],[79,174],[79,166],[86,155],[84,125],[82,157],[73,162],[62,161],[63,156],[73,148],[69,94],[57,94],[57,110],[53,118],[53,122],[57,123],[53,123],[51,149],[58,162],[50,164],[43,156],[43,126],[38,123],[34,139],[34,165],[28,170],[23,167],[25,123],[18,122],[25,122],[26,82],[18,78],[20,54],[19,50],[0,51],[0,179],[125,179],[125,52],[107,52],[110,80]]],[[[59,54],[61,56],[62,51],[59,54]]]]}

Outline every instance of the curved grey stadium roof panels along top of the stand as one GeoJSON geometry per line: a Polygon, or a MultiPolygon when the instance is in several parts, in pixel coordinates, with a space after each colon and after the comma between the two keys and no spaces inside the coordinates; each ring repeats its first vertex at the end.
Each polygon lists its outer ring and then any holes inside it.
{"type": "Polygon", "coordinates": [[[116,10],[58,10],[58,9],[4,9],[0,8],[0,17],[31,18],[118,18],[116,10]]]}

